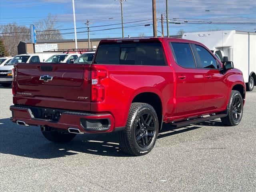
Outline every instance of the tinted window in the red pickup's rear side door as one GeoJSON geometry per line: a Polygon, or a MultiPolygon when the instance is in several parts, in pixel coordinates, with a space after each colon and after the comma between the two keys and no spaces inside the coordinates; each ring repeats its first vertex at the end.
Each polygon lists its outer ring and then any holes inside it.
{"type": "Polygon", "coordinates": [[[176,63],[184,68],[195,68],[196,64],[188,43],[172,43],[176,63]]]}

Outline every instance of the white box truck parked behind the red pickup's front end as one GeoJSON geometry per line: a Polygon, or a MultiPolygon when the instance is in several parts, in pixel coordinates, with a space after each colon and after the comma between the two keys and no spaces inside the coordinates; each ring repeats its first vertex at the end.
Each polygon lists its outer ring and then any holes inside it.
{"type": "Polygon", "coordinates": [[[234,67],[243,72],[246,90],[256,85],[256,33],[236,30],[184,33],[183,39],[207,46],[221,61],[228,56],[234,67]]]}

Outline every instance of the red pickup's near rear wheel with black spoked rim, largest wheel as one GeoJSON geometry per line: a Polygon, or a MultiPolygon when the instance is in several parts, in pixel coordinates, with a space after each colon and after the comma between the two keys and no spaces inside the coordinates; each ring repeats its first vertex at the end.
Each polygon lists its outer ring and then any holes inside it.
{"type": "Polygon", "coordinates": [[[135,156],[148,154],[157,135],[158,118],[154,108],[146,103],[132,103],[126,128],[119,132],[121,150],[135,156]]]}

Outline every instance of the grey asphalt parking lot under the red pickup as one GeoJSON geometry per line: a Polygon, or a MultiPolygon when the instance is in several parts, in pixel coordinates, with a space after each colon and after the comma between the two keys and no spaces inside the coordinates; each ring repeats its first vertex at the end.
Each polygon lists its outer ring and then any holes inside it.
{"type": "Polygon", "coordinates": [[[116,134],[67,144],[10,122],[11,88],[0,87],[0,189],[7,191],[256,191],[256,87],[242,122],[166,127],[146,156],[122,153],[116,134]]]}

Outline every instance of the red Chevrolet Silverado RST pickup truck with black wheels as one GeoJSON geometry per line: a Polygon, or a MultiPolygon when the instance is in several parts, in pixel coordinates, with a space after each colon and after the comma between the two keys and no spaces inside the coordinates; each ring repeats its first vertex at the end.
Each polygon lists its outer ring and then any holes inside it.
{"type": "Polygon", "coordinates": [[[235,126],[243,114],[242,72],[190,40],[102,40],[92,64],[14,66],[10,119],[40,126],[52,142],[119,131],[121,149],[140,156],[164,123],[235,126]]]}

